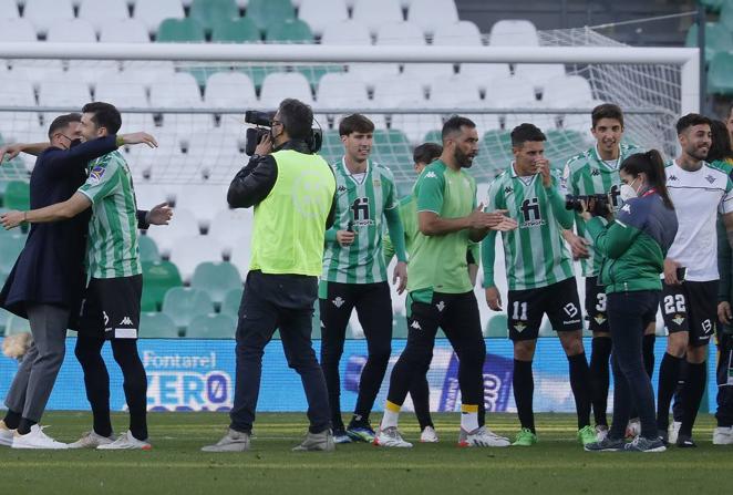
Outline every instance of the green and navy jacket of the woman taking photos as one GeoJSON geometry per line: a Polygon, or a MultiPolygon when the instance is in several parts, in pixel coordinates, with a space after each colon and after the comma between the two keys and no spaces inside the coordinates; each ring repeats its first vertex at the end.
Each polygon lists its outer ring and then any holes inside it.
{"type": "Polygon", "coordinates": [[[606,286],[606,293],[661,290],[660,275],[678,221],[658,194],[630,199],[608,226],[596,217],[586,227],[603,255],[599,283],[606,286]]]}

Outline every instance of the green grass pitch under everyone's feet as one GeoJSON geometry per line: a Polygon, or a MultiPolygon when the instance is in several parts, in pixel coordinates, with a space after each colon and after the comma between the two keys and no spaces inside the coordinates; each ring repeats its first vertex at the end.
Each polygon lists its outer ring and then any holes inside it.
{"type": "MultiPolygon", "coordinates": [[[[306,431],[304,414],[260,414],[252,450],[205,454],[227,424],[226,414],[149,415],[151,452],[0,450],[0,494],[321,494],[321,493],[730,493],[733,446],[713,446],[713,421],[699,419],[695,450],[662,454],[590,454],[575,441],[569,414],[537,416],[539,443],[533,447],[458,448],[457,414],[438,414],[438,444],[405,451],[366,444],[339,446],[335,453],[293,453],[306,431]]],[[[374,417],[374,422],[376,417],[374,417]]],[[[44,415],[56,440],[71,442],[89,430],[89,413],[44,415]]],[[[116,431],[126,415],[115,414],[116,431]]],[[[513,414],[491,414],[489,426],[506,435],[517,431],[513,414]]],[[[407,440],[419,432],[404,414],[407,440]]]]}

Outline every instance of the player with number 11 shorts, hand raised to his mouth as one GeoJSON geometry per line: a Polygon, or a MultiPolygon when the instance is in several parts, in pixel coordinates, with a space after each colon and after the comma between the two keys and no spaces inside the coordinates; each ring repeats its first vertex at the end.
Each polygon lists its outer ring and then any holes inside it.
{"type": "MultiPolygon", "coordinates": [[[[489,186],[488,209],[504,210],[519,227],[502,234],[509,287],[508,328],[514,342],[514,398],[522,430],[514,445],[537,443],[531,361],[539,326],[547,314],[568,357],[570,388],[578,414],[578,440],[596,441],[590,426],[588,362],[582,347],[582,317],[572,260],[561,228],[572,226],[572,213],[565,208],[558,192],[558,177],[545,158],[545,134],[533,124],[512,131],[514,163],[489,186]],[[544,252],[538,256],[538,252],[544,252]]],[[[496,233],[489,231],[482,245],[486,302],[502,310],[502,297],[494,285],[496,233]]]]}

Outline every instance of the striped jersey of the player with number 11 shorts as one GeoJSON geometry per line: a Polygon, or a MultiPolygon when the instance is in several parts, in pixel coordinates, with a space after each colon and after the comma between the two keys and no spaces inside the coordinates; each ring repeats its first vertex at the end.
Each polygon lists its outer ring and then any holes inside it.
{"type": "Polygon", "coordinates": [[[550,188],[545,188],[539,174],[519,177],[512,164],[488,187],[487,210],[506,209],[519,224],[502,233],[509,290],[536,289],[574,277],[561,233],[562,225],[572,225],[572,217],[558,190],[559,174],[553,171],[551,178],[550,188]]]}

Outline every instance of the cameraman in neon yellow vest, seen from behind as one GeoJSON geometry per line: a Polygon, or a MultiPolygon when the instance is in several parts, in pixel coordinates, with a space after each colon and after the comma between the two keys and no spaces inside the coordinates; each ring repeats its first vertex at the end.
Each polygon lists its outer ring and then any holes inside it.
{"type": "Polygon", "coordinates": [[[334,448],[326,381],[310,336],[326,229],[333,224],[335,178],[312,152],[312,121],[310,106],[283,100],[269,135],[229,186],[229,206],[257,207],[250,271],[239,307],[231,424],[205,452],[249,450],[262,353],[276,329],[308,399],[309,432],[295,450],[334,448]]]}

